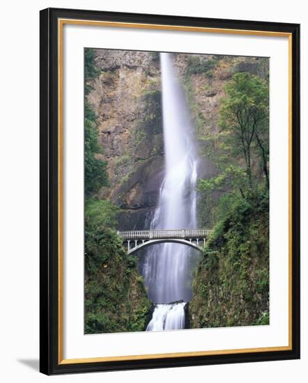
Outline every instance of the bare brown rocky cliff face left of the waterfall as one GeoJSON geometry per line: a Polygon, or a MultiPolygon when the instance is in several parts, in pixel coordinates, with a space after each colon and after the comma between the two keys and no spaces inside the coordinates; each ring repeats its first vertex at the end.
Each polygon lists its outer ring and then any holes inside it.
{"type": "Polygon", "coordinates": [[[149,52],[99,49],[88,102],[98,116],[109,187],[100,198],[121,206],[120,229],[144,228],[163,177],[160,65],[149,52]]]}

